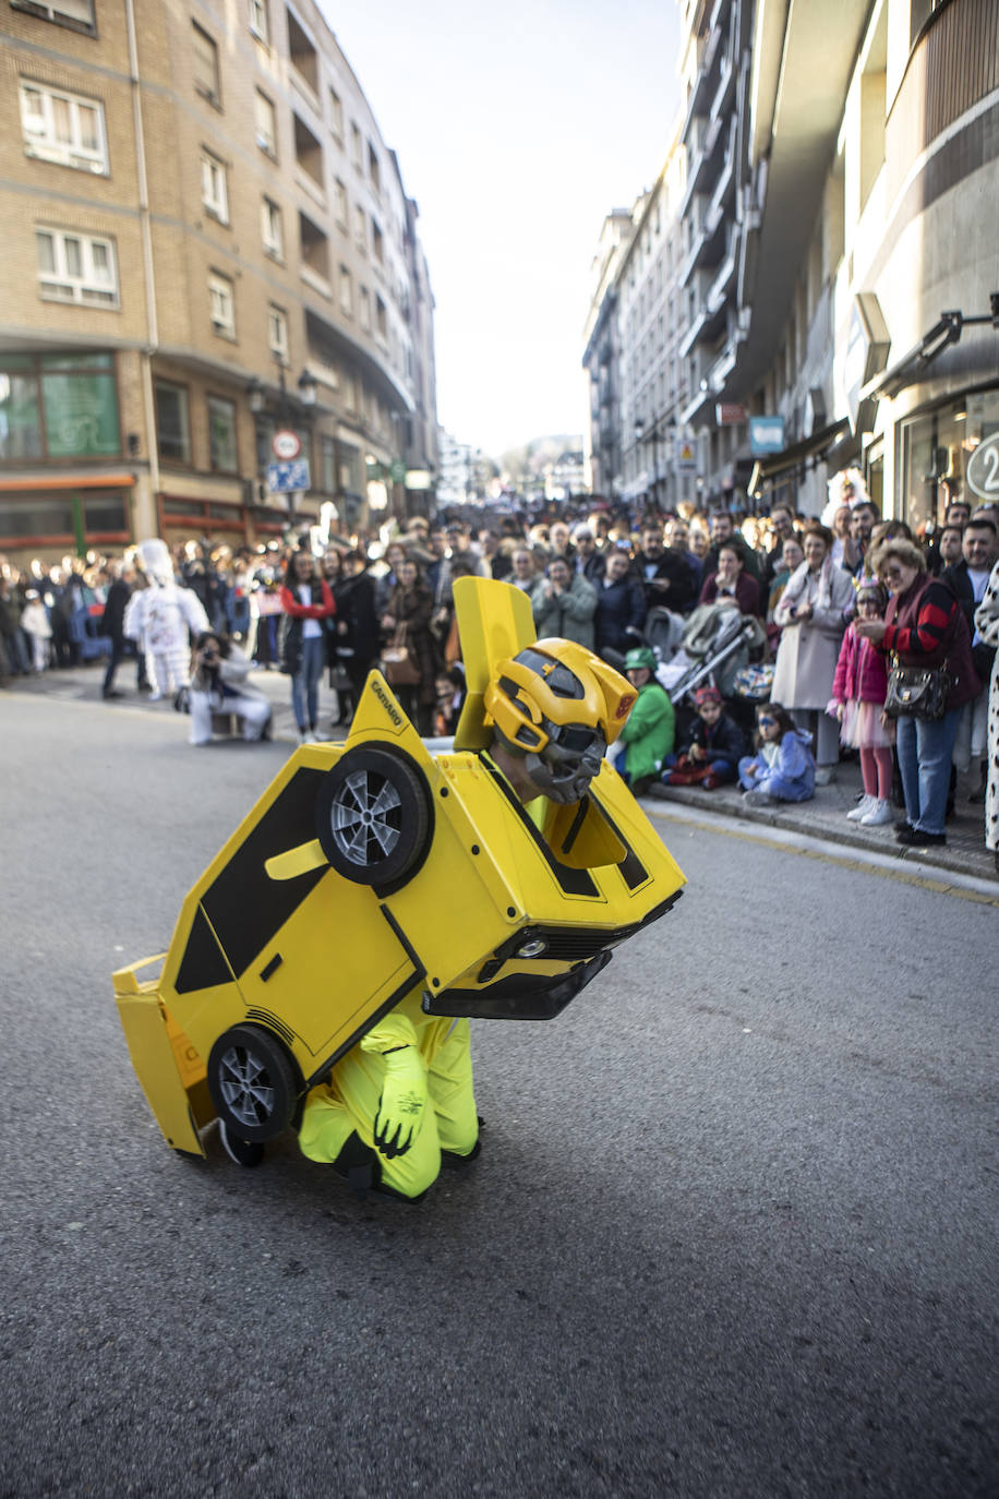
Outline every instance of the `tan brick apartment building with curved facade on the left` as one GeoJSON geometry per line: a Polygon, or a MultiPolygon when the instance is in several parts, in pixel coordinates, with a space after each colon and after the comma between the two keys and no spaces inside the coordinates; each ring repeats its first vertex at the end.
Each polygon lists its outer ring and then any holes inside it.
{"type": "Polygon", "coordinates": [[[436,465],[430,279],[318,6],[7,0],[0,36],[0,549],[352,529],[386,478],[404,508],[436,465]]]}

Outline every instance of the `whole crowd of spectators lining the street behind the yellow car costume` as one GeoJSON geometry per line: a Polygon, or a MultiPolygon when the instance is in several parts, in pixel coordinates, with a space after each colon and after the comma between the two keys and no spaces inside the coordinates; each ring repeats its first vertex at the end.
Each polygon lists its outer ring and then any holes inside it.
{"type": "Polygon", "coordinates": [[[953,504],[914,537],[881,520],[857,471],[821,519],[788,507],[502,505],[413,517],[377,535],[288,534],[256,550],[192,538],[121,556],[0,561],[0,675],[99,663],[103,697],[190,714],[190,742],[270,733],[252,669],[282,670],[300,739],[324,738],[327,681],[347,726],[380,667],[424,736],[464,697],[452,585],[530,595],[539,637],[565,637],[638,688],[617,769],[653,782],[738,782],[752,805],[804,800],[858,755],[848,812],[902,844],[945,844],[956,797],[983,805],[999,869],[999,511],[953,504]],[[130,663],[130,667],[127,666],[130,663]],[[915,694],[915,696],[914,696],[915,694]],[[896,815],[905,808],[905,815],[896,815]]]}

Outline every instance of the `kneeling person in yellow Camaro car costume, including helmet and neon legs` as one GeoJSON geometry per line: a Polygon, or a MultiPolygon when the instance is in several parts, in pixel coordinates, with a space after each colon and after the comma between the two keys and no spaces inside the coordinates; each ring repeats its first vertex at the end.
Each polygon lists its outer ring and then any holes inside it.
{"type": "Polygon", "coordinates": [[[190,890],[169,950],[115,973],[175,1150],[204,1156],[217,1118],[250,1163],[294,1124],[356,1186],[419,1196],[442,1151],[476,1151],[469,1016],[557,1015],[680,893],[604,760],[629,684],[583,646],[535,640],[505,583],[461,579],[455,607],[469,696],[454,751],[431,755],[373,672],[346,744],[295,751],[190,890]]]}

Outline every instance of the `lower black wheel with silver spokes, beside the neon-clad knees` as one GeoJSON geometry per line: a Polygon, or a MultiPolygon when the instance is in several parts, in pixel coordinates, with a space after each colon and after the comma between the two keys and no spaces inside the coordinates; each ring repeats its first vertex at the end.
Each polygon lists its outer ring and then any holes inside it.
{"type": "Polygon", "coordinates": [[[295,1114],[295,1067],[270,1031],[261,1025],[232,1025],[208,1055],[208,1091],[232,1138],[274,1139],[295,1114]]]}

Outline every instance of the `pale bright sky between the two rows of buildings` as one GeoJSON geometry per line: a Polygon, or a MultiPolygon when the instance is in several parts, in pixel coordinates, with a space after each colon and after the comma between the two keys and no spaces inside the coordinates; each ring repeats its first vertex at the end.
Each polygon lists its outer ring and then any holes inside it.
{"type": "Polygon", "coordinates": [[[419,204],[440,423],[491,454],[581,435],[590,264],[665,157],[675,0],[321,4],[419,204]]]}

